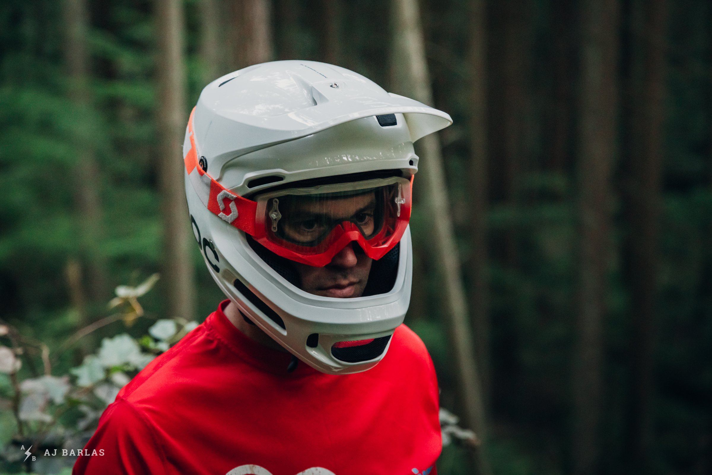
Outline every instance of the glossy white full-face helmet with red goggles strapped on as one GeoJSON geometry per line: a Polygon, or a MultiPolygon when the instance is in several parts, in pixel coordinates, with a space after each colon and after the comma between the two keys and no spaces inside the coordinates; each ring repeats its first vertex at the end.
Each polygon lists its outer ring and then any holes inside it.
{"type": "Polygon", "coordinates": [[[410,300],[413,142],[451,122],[325,63],[274,61],[214,80],[183,145],[190,219],[211,276],[244,317],[317,370],[375,366],[410,300]],[[294,203],[365,194],[378,208],[368,230],[344,219],[308,239],[291,233],[294,203]],[[375,259],[363,296],[300,289],[294,262],[324,266],[350,244],[375,259]]]}

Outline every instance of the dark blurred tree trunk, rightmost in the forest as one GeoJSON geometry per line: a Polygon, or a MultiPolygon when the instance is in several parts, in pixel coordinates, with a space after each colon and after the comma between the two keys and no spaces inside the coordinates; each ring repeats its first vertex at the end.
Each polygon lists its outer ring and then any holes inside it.
{"type": "Polygon", "coordinates": [[[666,0],[634,1],[632,37],[634,68],[630,132],[632,147],[627,183],[629,242],[627,275],[631,291],[631,387],[628,425],[630,461],[647,473],[651,437],[653,349],[657,307],[657,258],[660,216],[660,176],[664,137],[666,76],[666,0]],[[636,74],[639,73],[639,74],[636,74]]]}

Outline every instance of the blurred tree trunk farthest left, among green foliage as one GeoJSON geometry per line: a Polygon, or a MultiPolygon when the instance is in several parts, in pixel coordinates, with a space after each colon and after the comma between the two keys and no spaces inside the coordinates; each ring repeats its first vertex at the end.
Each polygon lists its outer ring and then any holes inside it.
{"type": "MultiPolygon", "coordinates": [[[[80,259],[87,271],[89,296],[92,301],[104,303],[108,293],[108,272],[98,246],[103,237],[102,209],[100,200],[101,177],[95,160],[91,118],[92,99],[89,90],[89,55],[87,51],[88,12],[85,0],[64,1],[64,24],[66,26],[65,58],[69,76],[69,95],[79,111],[78,133],[75,147],[75,201],[80,221],[78,243],[80,259]]],[[[81,321],[80,326],[88,321],[81,321]]]]}

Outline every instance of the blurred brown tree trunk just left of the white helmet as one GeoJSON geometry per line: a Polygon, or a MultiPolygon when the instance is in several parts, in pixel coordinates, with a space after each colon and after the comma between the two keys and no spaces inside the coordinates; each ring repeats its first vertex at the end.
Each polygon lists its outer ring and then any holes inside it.
{"type": "Polygon", "coordinates": [[[159,184],[163,215],[163,282],[167,318],[195,318],[191,263],[193,239],[188,226],[182,166],[186,113],[181,0],[156,0],[158,38],[159,184]]]}

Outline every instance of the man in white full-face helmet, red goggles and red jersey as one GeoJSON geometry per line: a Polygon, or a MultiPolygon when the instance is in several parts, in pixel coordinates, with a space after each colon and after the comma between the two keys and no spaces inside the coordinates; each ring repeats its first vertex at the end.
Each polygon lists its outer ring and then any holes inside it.
{"type": "Polygon", "coordinates": [[[186,195],[229,299],[121,390],[73,473],[434,474],[437,382],[402,321],[413,142],[450,123],[312,61],[207,85],[186,195]]]}

